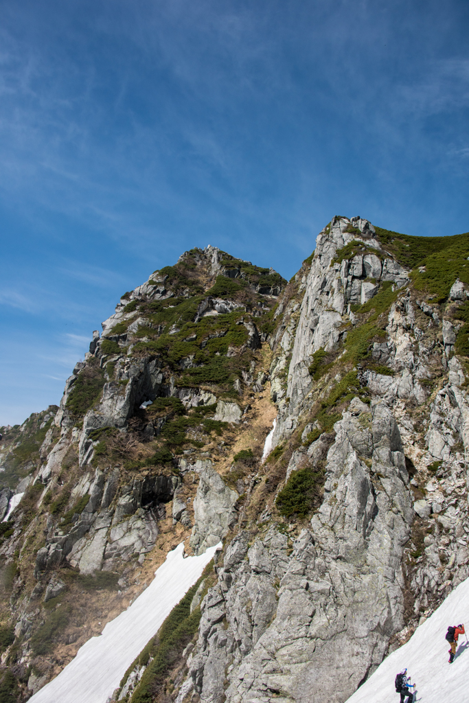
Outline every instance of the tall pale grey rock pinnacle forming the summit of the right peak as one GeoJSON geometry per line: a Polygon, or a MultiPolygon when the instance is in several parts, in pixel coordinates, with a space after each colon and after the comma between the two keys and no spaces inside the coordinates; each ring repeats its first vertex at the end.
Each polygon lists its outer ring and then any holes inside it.
{"type": "Polygon", "coordinates": [[[367,279],[391,281],[397,288],[402,288],[409,280],[407,271],[388,257],[373,237],[373,226],[368,221],[359,221],[361,234],[349,231],[352,223],[348,219],[335,217],[316,239],[297,322],[290,317],[289,328],[281,340],[281,345],[291,349],[292,354],[285,391],[278,387],[275,378],[282,373],[286,360],[282,362],[280,356],[276,366],[271,368],[273,397],[278,401],[280,393],[290,399],[288,407],[279,406],[276,441],[296,425],[295,418],[311,387],[308,368],[312,354],[319,349],[330,352],[338,347],[344,323],[349,321],[350,305],[366,302],[377,292],[378,286],[367,279]],[[363,242],[368,253],[335,263],[337,253],[353,241],[363,242]]]}

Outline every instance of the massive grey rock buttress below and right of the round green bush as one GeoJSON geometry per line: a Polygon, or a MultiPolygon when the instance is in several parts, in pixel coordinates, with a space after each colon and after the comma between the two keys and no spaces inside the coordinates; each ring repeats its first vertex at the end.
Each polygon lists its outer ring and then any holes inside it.
{"type": "Polygon", "coordinates": [[[226,548],[191,663],[203,701],[342,702],[403,626],[413,509],[396,420],[355,399],[335,432],[323,503],[293,553],[275,527],[226,548]]]}

